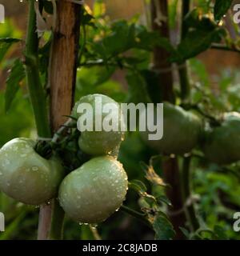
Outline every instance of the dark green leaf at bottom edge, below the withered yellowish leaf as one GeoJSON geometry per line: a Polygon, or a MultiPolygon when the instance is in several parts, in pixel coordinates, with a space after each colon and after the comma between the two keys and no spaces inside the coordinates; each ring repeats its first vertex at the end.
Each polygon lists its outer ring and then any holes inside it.
{"type": "Polygon", "coordinates": [[[174,227],[165,215],[158,213],[154,218],[153,228],[156,240],[172,240],[175,235],[174,227]]]}

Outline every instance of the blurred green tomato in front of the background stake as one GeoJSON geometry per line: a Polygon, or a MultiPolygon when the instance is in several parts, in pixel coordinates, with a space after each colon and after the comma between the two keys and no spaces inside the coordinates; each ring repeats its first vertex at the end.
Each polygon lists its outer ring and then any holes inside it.
{"type": "Polygon", "coordinates": [[[147,144],[164,154],[185,154],[197,145],[202,134],[202,121],[190,111],[169,102],[163,105],[163,137],[148,140],[149,132],[141,132],[147,144]]]}

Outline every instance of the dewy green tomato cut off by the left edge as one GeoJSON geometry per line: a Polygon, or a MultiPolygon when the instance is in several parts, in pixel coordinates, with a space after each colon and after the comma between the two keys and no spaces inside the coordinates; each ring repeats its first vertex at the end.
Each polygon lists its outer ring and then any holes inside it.
{"type": "Polygon", "coordinates": [[[63,178],[57,158],[46,160],[34,141],[14,138],[0,150],[0,190],[19,202],[40,205],[54,198],[63,178]]]}

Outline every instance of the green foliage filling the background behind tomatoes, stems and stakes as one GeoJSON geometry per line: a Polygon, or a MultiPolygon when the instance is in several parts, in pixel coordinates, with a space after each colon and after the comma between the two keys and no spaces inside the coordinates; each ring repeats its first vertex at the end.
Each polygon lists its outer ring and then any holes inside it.
{"type": "MultiPolygon", "coordinates": [[[[239,49],[239,38],[235,41],[231,40],[226,28],[219,26],[218,23],[229,9],[231,1],[217,1],[215,6],[213,2],[207,0],[195,2],[198,8],[192,10],[185,19],[188,29],[186,37],[178,46],[172,46],[169,40],[150,32],[146,26],[143,26],[139,22],[138,15],[129,21],[111,21],[105,15],[102,2],[96,1],[94,18],[87,12],[82,14],[82,36],[79,45],[83,54],[79,56],[76,100],[86,94],[101,93],[109,95],[118,102],[150,102],[149,84],[154,86],[154,80],[150,80],[154,78],[154,74],[149,73],[152,72],[149,70],[150,53],[154,46],[161,46],[170,51],[170,62],[181,65],[182,62],[189,60],[191,106],[198,106],[198,109],[207,116],[214,117],[218,117],[224,111],[240,112],[239,71],[222,70],[222,74],[215,78],[218,84],[215,90],[211,86],[211,77],[206,66],[196,58],[216,42],[223,41],[228,47],[234,44],[233,50],[239,49]],[[204,18],[199,18],[200,14],[204,14],[204,18]],[[121,79],[115,79],[114,74],[121,74],[121,79]]],[[[177,24],[178,1],[170,1],[169,11],[170,27],[174,29],[177,24]]],[[[237,27],[235,30],[239,32],[237,27]]],[[[49,38],[48,33],[44,35],[46,41],[49,38]]],[[[22,32],[7,20],[5,24],[0,25],[0,38],[22,38],[22,32]]],[[[6,48],[10,48],[6,58],[1,62],[1,70],[9,70],[12,65],[17,69],[13,78],[9,77],[6,81],[6,94],[5,90],[0,91],[0,146],[11,138],[36,136],[30,98],[26,90],[26,82],[22,77],[21,59],[17,58],[16,61],[11,55],[15,46],[12,43],[0,41],[0,60],[6,48]],[[20,88],[22,90],[18,90],[20,88]]],[[[17,42],[19,43],[21,42],[17,42]]],[[[40,55],[43,84],[46,82],[44,63],[48,54],[49,47],[43,47],[40,55]]],[[[174,90],[179,95],[178,82],[175,82],[174,90]]],[[[180,102],[179,98],[177,102],[180,102]]],[[[155,198],[165,198],[163,187],[154,186],[152,181],[146,181],[146,173],[142,170],[141,162],[149,164],[152,156],[156,154],[157,152],[142,142],[138,133],[128,134],[126,141],[122,143],[119,160],[126,168],[130,181],[133,181],[132,186],[138,191],[136,193],[134,189],[130,190],[126,205],[135,210],[153,203],[142,195],[145,190],[155,198]],[[142,188],[142,185],[139,185],[142,183],[139,181],[144,182],[146,187],[142,188]]],[[[186,226],[182,232],[186,234],[186,238],[240,239],[240,234],[234,232],[232,227],[233,214],[240,211],[239,163],[217,166],[207,162],[201,150],[196,149],[194,154],[196,157],[192,167],[193,200],[201,230],[191,234],[186,226]]],[[[161,166],[159,165],[161,161],[162,158],[156,158],[153,163],[159,176],[162,175],[162,169],[158,168],[161,166]]],[[[162,212],[166,211],[166,204],[161,200],[158,205],[162,212]]],[[[38,226],[37,206],[24,206],[0,193],[0,210],[6,215],[6,232],[0,234],[0,239],[35,238],[38,226]]],[[[79,226],[78,223],[66,218],[65,227],[66,239],[94,239],[94,232],[90,226],[79,226]]],[[[158,239],[165,239],[173,235],[170,223],[161,214],[154,222],[154,231],[122,211],[98,226],[98,234],[102,239],[123,237],[146,239],[154,238],[154,235],[158,239]]]]}

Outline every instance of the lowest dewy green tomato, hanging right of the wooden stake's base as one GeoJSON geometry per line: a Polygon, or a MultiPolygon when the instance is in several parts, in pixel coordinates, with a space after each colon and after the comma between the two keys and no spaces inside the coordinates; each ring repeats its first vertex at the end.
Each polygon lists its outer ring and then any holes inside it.
{"type": "Polygon", "coordinates": [[[102,222],[122,205],[127,184],[120,162],[110,156],[92,158],[64,178],[59,202],[77,222],[102,222]]]}

